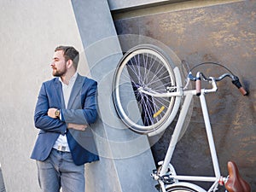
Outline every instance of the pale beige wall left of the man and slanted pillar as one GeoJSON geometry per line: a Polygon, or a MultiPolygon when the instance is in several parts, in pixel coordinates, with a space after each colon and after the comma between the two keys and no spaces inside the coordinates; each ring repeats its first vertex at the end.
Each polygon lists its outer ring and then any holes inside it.
{"type": "MultiPolygon", "coordinates": [[[[49,63],[59,44],[83,46],[69,1],[0,2],[0,163],[9,192],[38,191],[30,154],[38,131],[33,112],[41,83],[51,78],[49,63]]],[[[80,70],[85,71],[82,56],[80,70]],[[84,68],[83,68],[84,67],[84,68]]]]}

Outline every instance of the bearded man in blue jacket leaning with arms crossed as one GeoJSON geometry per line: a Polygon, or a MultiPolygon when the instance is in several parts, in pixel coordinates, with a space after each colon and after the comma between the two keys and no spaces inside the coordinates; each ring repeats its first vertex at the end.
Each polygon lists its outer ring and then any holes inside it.
{"type": "Polygon", "coordinates": [[[34,114],[40,130],[32,159],[45,192],[84,192],[84,163],[99,160],[90,124],[96,121],[96,81],[77,73],[79,52],[55,49],[54,79],[42,84],[34,114]]]}

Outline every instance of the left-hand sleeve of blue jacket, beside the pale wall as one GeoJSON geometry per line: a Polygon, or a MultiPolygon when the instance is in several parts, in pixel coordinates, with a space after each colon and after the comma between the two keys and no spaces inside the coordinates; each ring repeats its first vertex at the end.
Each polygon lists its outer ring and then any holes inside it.
{"type": "Polygon", "coordinates": [[[47,95],[45,83],[42,84],[38,95],[38,102],[34,114],[35,126],[43,131],[58,132],[62,135],[67,130],[67,125],[60,119],[50,118],[47,115],[50,98],[47,95]]]}

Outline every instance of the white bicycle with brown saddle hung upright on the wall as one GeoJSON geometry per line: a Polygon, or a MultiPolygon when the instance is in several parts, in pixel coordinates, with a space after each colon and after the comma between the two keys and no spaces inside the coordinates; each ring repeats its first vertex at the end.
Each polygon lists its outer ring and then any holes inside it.
{"type": "MultiPolygon", "coordinates": [[[[206,64],[206,63],[205,63],[206,64]]],[[[224,67],[218,63],[218,66],[224,67]]],[[[202,64],[200,64],[202,65],[202,64]]],[[[178,115],[177,124],[172,133],[172,139],[166,152],[165,160],[159,162],[152,177],[158,181],[158,189],[162,192],[210,192],[217,191],[219,185],[224,185],[229,192],[250,192],[249,184],[240,177],[234,162],[228,162],[229,176],[223,177],[218,166],[218,157],[212,137],[212,127],[207,111],[205,95],[217,91],[217,82],[228,77],[232,83],[246,96],[239,79],[230,72],[218,78],[207,78],[192,70],[187,76],[187,84],[183,86],[180,70],[172,59],[162,49],[154,45],[143,44],[125,53],[113,76],[113,102],[120,119],[132,131],[154,136],[164,131],[175,118],[184,97],[183,106],[178,115]],[[210,89],[201,88],[201,80],[209,82],[210,89]],[[188,89],[188,84],[195,81],[195,89],[188,89]],[[193,96],[199,96],[201,109],[207,131],[207,140],[212,156],[214,176],[177,175],[174,166],[170,164],[183,123],[188,114],[193,96]],[[195,185],[195,181],[211,182],[209,189],[195,185]]]]}

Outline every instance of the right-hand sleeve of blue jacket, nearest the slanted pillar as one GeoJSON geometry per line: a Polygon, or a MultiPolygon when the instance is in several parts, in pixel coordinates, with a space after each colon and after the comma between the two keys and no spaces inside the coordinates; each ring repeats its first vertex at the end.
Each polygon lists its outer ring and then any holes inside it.
{"type": "Polygon", "coordinates": [[[92,79],[85,79],[81,88],[81,106],[79,109],[62,109],[61,119],[66,123],[90,125],[96,121],[96,88],[97,83],[92,79]]]}

